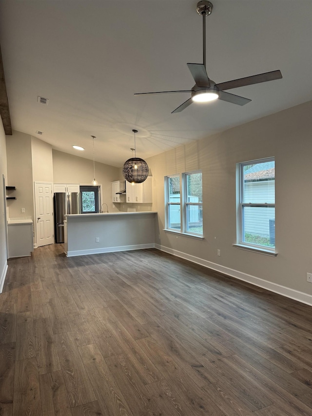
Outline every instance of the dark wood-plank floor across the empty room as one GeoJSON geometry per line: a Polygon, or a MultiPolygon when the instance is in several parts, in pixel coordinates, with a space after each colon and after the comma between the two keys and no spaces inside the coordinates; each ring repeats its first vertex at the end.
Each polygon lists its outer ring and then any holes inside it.
{"type": "Polygon", "coordinates": [[[312,307],[157,250],[9,260],[0,415],[311,416],[312,307]]]}

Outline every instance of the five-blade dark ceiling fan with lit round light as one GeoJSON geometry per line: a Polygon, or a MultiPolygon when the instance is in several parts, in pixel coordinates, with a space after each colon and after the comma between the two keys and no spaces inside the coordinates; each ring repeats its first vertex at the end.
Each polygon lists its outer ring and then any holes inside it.
{"type": "Polygon", "coordinates": [[[260,82],[272,81],[273,79],[281,79],[281,71],[271,71],[264,74],[253,75],[251,77],[233,79],[232,81],[221,82],[216,84],[212,79],[209,79],[206,71],[206,16],[211,15],[213,11],[213,4],[208,0],[202,0],[197,3],[196,12],[203,17],[203,63],[188,63],[187,66],[195,80],[195,85],[190,90],[180,91],[158,91],[151,93],[136,93],[135,95],[143,94],[171,94],[171,93],[191,93],[191,98],[179,105],[172,113],[179,113],[184,110],[193,101],[207,102],[214,99],[221,99],[223,101],[232,102],[233,104],[245,105],[251,99],[240,97],[234,94],[225,92],[231,88],[243,87],[245,85],[258,84],[260,82]]]}

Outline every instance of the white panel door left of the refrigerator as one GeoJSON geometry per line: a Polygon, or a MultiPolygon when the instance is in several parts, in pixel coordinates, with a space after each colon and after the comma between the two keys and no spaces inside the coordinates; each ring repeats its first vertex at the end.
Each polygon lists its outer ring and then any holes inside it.
{"type": "Polygon", "coordinates": [[[54,243],[52,183],[35,182],[37,247],[54,243]]]}

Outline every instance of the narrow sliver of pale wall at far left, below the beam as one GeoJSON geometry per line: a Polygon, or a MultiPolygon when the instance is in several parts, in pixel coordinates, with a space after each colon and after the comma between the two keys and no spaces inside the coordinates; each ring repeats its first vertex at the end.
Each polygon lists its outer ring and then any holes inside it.
{"type": "Polygon", "coordinates": [[[2,177],[7,177],[6,166],[6,145],[5,134],[2,121],[0,122],[0,293],[4,283],[7,270],[7,250],[6,250],[6,223],[5,223],[5,190],[3,190],[2,177]]]}

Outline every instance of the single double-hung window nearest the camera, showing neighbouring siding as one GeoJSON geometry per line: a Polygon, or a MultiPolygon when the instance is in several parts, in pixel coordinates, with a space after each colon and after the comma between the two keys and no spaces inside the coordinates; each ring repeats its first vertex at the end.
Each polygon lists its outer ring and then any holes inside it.
{"type": "Polygon", "coordinates": [[[239,218],[237,244],[274,251],[274,158],[238,164],[239,218]]]}

